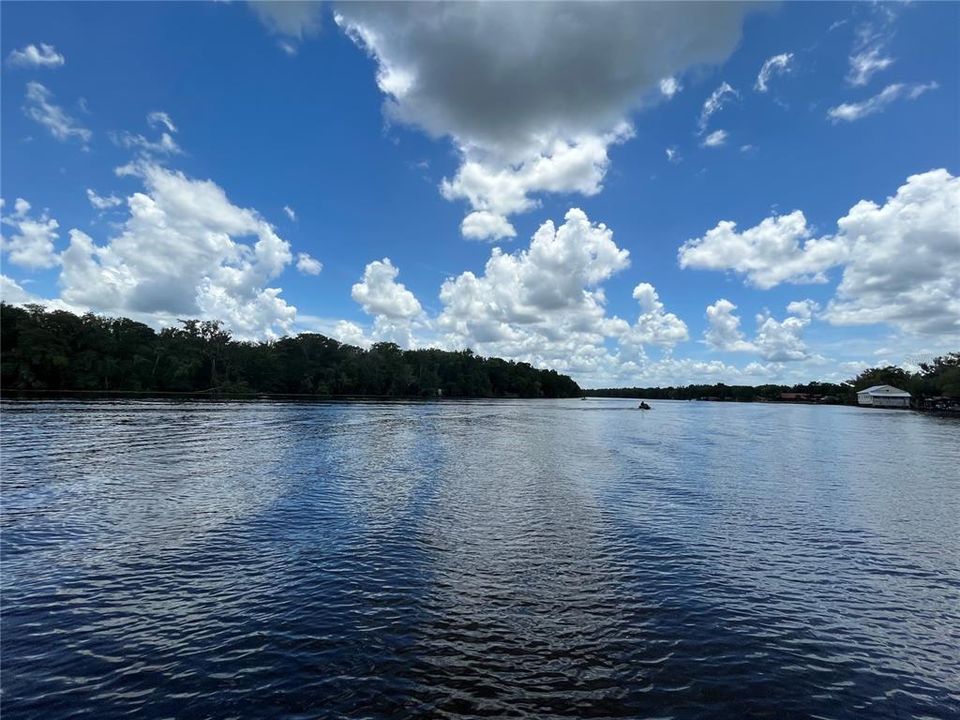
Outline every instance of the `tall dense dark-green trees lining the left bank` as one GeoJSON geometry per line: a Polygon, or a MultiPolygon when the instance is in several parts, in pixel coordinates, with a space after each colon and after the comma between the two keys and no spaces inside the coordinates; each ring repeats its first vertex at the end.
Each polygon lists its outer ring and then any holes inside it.
{"type": "Polygon", "coordinates": [[[159,334],[126,318],[0,304],[5,390],[296,393],[436,397],[576,397],[553,370],[470,350],[369,350],[323,335],[230,338],[219,322],[185,320],[159,334]]]}

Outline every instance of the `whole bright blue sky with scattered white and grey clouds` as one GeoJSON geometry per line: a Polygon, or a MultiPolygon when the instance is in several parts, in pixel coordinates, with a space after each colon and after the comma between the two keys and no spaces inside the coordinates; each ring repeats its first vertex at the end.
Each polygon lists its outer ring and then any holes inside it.
{"type": "Polygon", "coordinates": [[[960,350],[960,3],[0,5],[5,302],[585,387],[960,350]]]}

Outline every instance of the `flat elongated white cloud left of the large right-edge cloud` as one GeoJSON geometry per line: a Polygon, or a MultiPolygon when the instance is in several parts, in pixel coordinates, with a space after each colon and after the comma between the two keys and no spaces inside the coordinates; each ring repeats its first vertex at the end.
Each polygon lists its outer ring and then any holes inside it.
{"type": "Polygon", "coordinates": [[[721,221],[703,237],[685,242],[678,259],[682,268],[733,270],[768,289],[782,282],[826,282],[825,271],[846,255],[846,243],[814,238],[803,213],[795,210],[743,232],[737,232],[736,223],[721,221]]]}

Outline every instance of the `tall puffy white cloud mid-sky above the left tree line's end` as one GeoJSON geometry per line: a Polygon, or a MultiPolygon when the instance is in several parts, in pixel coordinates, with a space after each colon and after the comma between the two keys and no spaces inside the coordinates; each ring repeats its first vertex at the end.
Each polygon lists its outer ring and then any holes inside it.
{"type": "MultiPolygon", "coordinates": [[[[631,328],[606,316],[600,285],[628,265],[629,253],[617,247],[610,229],[572,209],[560,227],[543,223],[527,249],[506,254],[494,248],[482,275],[464,272],[446,280],[436,328],[448,347],[561,372],[605,373],[619,365],[604,347],[605,338],[627,335],[631,328]]],[[[662,316],[662,306],[651,312],[662,316]]],[[[655,339],[674,341],[665,335],[655,339]]]]}

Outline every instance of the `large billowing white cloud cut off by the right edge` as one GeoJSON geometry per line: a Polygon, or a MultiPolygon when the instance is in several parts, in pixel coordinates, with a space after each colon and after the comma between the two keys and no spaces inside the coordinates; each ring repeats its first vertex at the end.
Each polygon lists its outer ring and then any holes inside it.
{"type": "Polygon", "coordinates": [[[883,205],[862,200],[837,224],[850,253],[830,322],[960,333],[960,179],[912,175],[883,205]]]}

